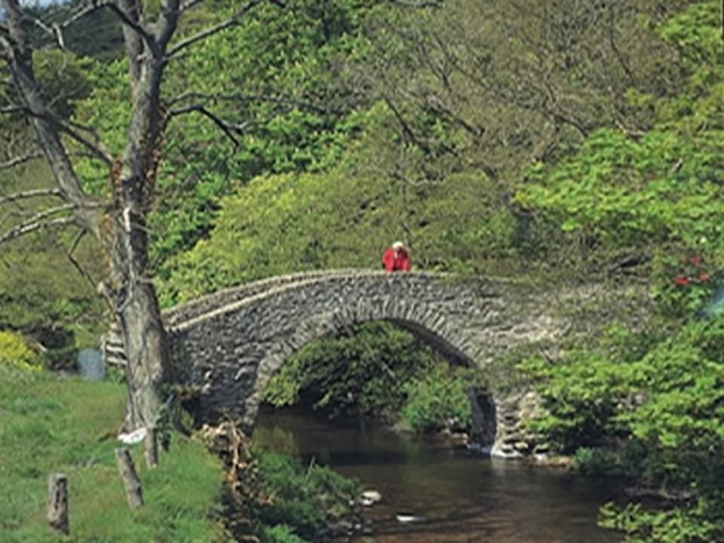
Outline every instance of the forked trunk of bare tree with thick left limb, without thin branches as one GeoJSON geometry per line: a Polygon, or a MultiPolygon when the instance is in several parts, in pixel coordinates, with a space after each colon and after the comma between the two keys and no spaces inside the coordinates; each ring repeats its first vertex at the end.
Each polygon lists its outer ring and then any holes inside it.
{"type": "Polygon", "coordinates": [[[161,145],[160,88],[164,72],[164,48],[175,30],[178,0],[163,0],[167,9],[156,43],[138,26],[138,3],[123,0],[125,34],[130,62],[132,119],[122,159],[114,161],[93,143],[85,142],[96,158],[109,164],[113,201],[108,214],[98,213],[95,202],[83,192],[62,140],[63,124],[43,100],[35,79],[30,40],[22,24],[19,0],[0,0],[9,21],[8,37],[0,33],[0,49],[9,63],[12,81],[21,98],[19,107],[28,115],[38,143],[46,156],[56,184],[72,208],[77,227],[93,234],[104,248],[110,277],[100,285],[121,328],[127,356],[129,412],[126,428],[150,426],[161,407],[161,384],[168,375],[169,350],[161,322],[156,292],[148,272],[146,217],[152,207],[156,167],[161,145]],[[135,30],[130,27],[135,25],[135,30]],[[144,46],[145,44],[145,46],[144,46]],[[140,54],[143,52],[143,54],[140,54]]]}

